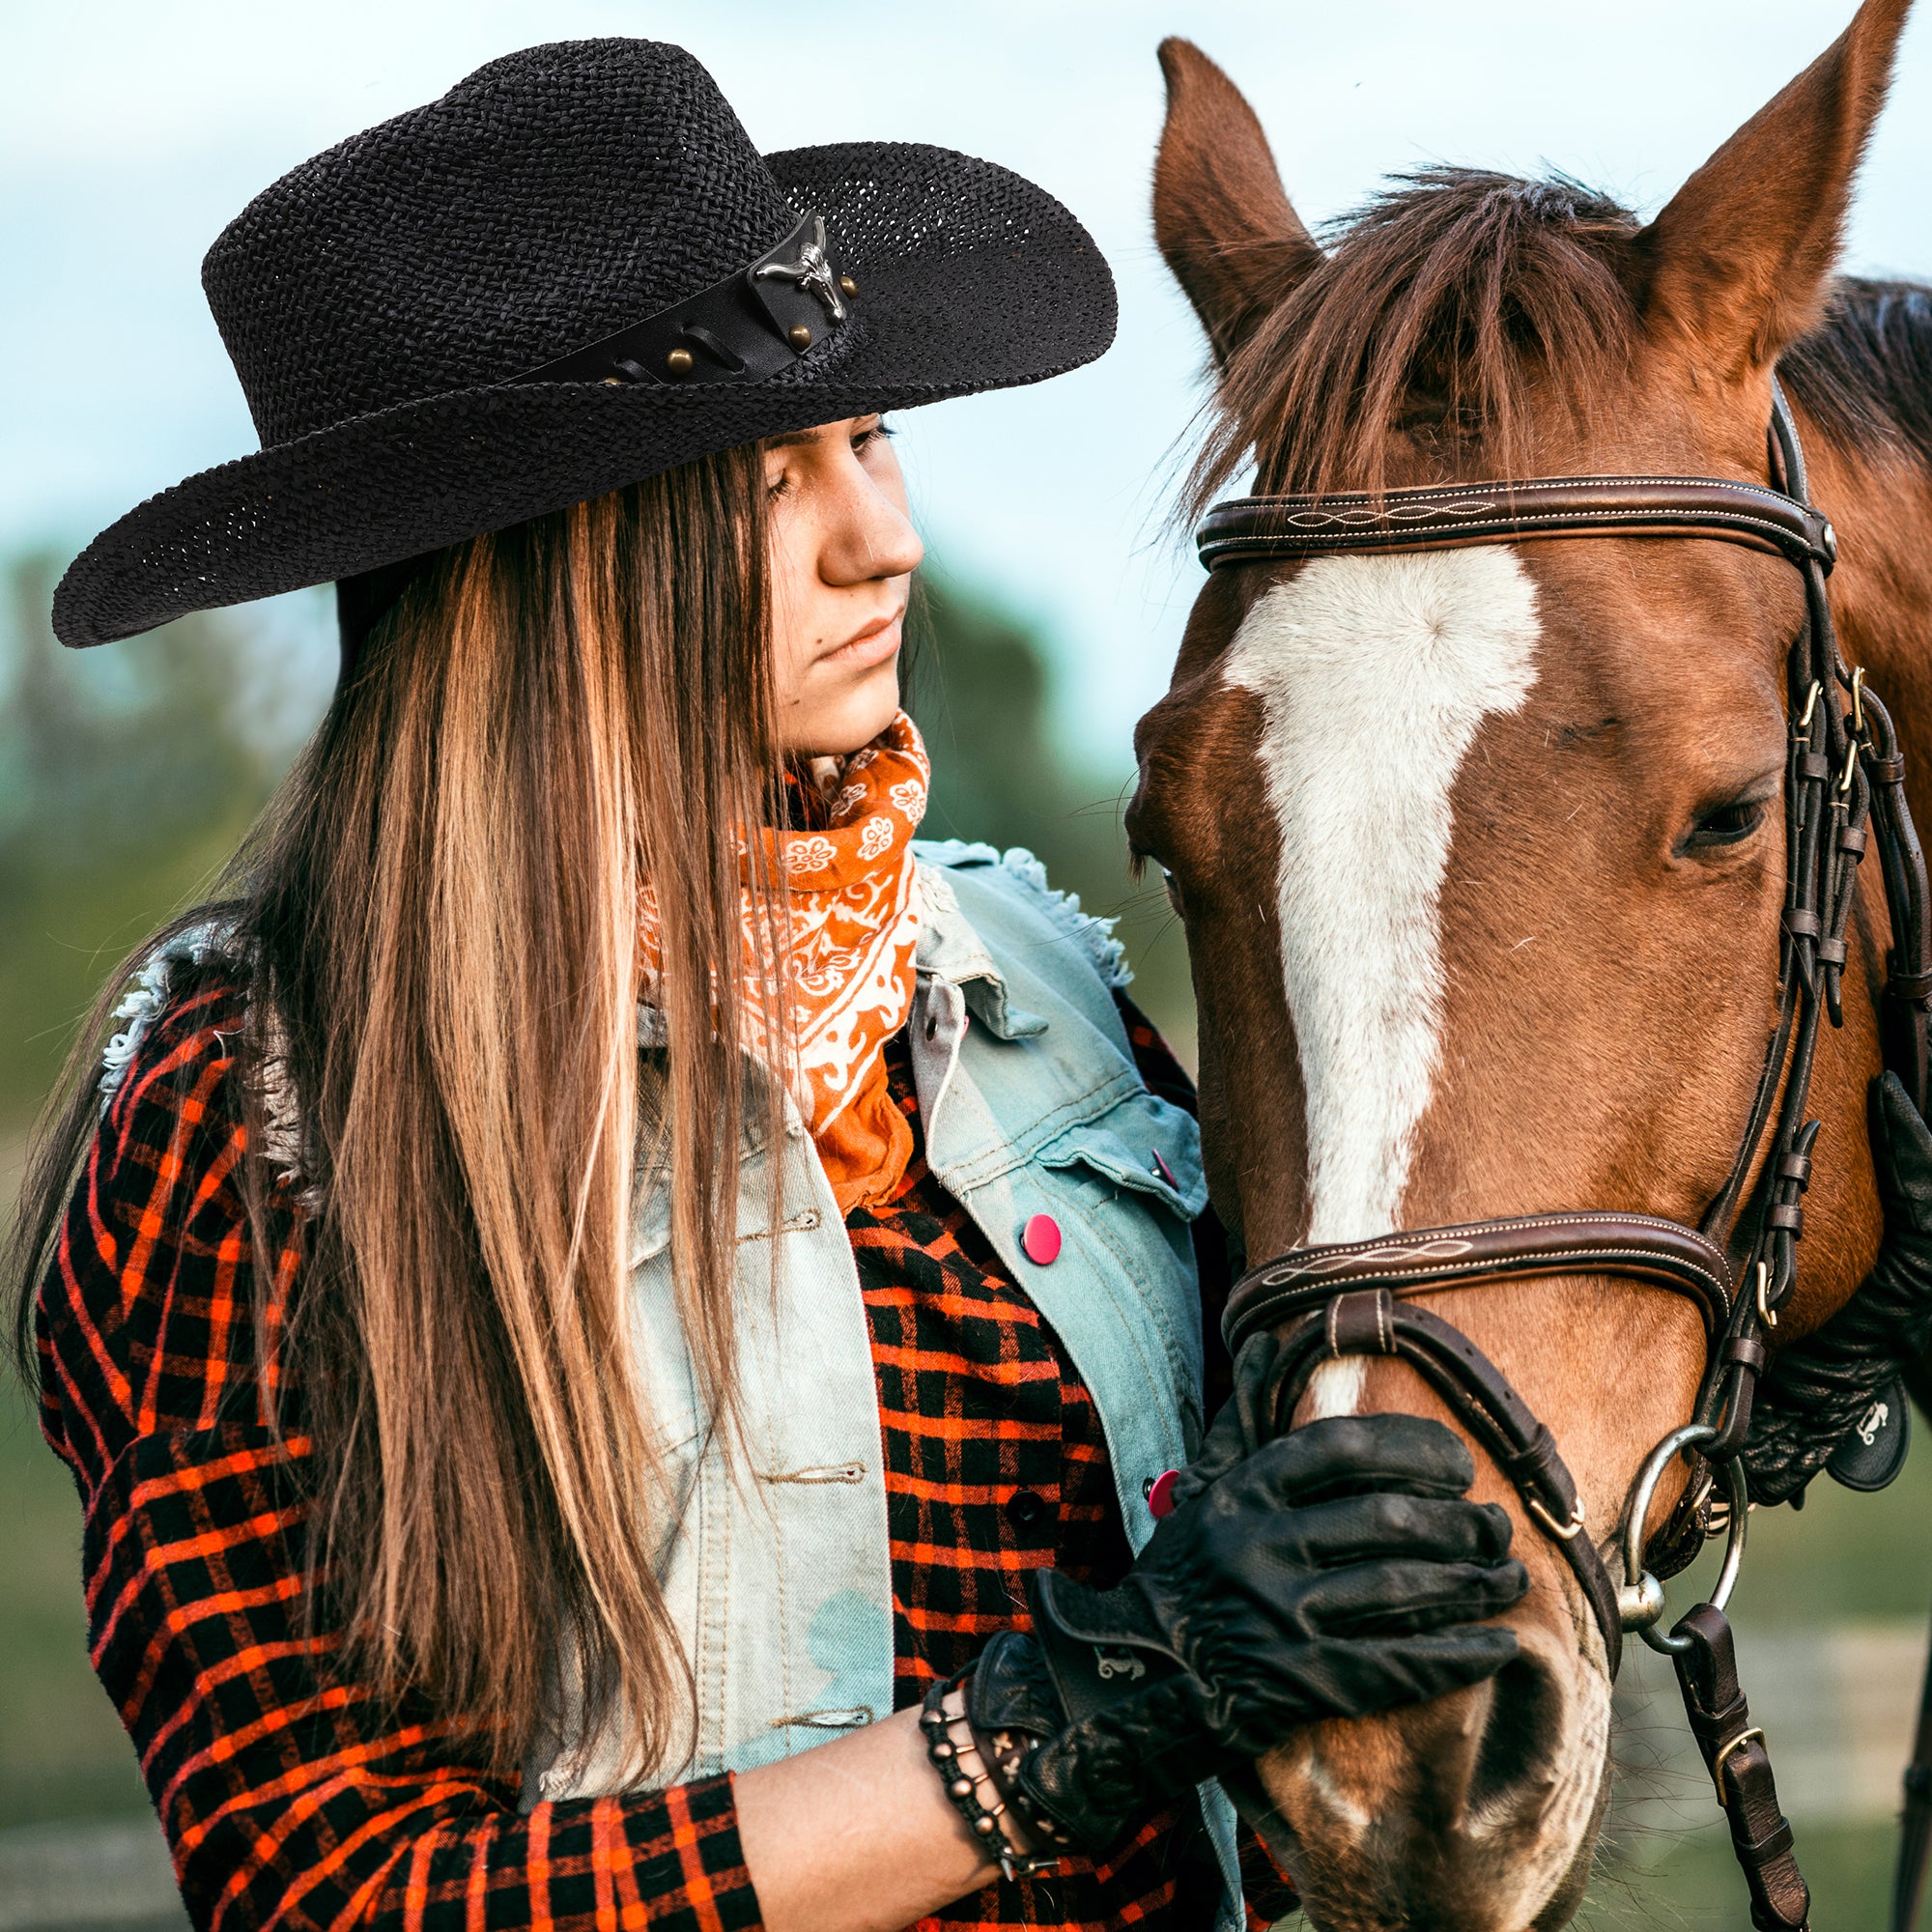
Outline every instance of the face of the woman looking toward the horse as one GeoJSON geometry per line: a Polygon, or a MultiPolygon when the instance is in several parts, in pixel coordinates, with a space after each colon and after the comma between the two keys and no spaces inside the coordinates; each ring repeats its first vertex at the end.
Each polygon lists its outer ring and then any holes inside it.
{"type": "Polygon", "coordinates": [[[794,755],[871,744],[898,711],[906,591],[923,554],[877,415],[765,444],[779,736],[794,755]]]}

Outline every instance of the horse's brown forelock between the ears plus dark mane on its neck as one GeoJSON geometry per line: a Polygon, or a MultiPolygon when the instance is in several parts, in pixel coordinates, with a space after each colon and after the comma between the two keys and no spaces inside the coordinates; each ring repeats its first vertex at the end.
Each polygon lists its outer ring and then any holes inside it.
{"type": "MultiPolygon", "coordinates": [[[[1567,176],[1399,176],[1331,224],[1320,267],[1231,357],[1186,508],[1250,452],[1262,491],[1379,491],[1397,429],[1439,444],[1445,475],[1476,440],[1484,468],[1513,473],[1532,398],[1588,423],[1629,375],[1638,232],[1627,207],[1567,176]]],[[[1932,464],[1932,290],[1841,282],[1781,371],[1849,444],[1932,464]]]]}

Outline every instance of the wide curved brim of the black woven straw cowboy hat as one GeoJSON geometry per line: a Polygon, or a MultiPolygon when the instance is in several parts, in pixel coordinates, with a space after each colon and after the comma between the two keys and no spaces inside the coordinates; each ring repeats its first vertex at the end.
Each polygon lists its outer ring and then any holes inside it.
{"type": "Polygon", "coordinates": [[[71,647],[131,638],[506,529],[759,437],[1043,383],[1105,352],[1113,276],[1061,203],[966,155],[875,151],[927,162],[920,222],[898,236],[864,205],[867,145],[769,156],[794,205],[825,214],[835,261],[860,282],[821,354],[767,383],[452,390],[203,469],[95,537],[54,593],[54,632],[71,647]],[[989,189],[999,238],[935,251],[949,218],[966,234],[983,226],[974,203],[989,189]]]}

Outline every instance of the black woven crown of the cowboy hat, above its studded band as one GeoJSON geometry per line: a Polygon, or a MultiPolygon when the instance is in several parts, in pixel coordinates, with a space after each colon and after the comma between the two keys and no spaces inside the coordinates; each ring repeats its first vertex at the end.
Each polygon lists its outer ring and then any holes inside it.
{"type": "Polygon", "coordinates": [[[201,280],[269,446],[502,383],[709,288],[796,218],[684,48],[554,41],[284,174],[201,280]]]}

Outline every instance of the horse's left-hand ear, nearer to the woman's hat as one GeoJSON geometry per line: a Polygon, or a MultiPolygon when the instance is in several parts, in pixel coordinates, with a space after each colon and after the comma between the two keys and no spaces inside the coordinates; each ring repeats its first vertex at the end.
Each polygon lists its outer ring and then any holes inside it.
{"type": "Polygon", "coordinates": [[[1289,207],[1240,89],[1192,41],[1161,41],[1161,73],[1167,126],[1153,162],[1153,240],[1225,363],[1321,249],[1289,207]]]}

